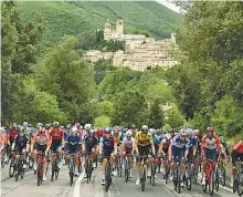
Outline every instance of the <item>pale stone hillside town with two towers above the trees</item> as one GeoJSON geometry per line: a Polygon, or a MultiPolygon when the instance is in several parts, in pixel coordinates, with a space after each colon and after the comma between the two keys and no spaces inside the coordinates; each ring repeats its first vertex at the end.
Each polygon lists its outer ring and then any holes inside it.
{"type": "Polygon", "coordinates": [[[145,71],[147,68],[162,66],[168,69],[180,62],[175,60],[172,50],[176,49],[175,33],[170,39],[158,40],[146,38],[144,34],[125,34],[124,21],[116,21],[116,29],[112,29],[107,19],[105,23],[104,39],[125,41],[125,50],[117,52],[87,51],[85,59],[96,62],[99,59],[112,59],[114,66],[129,68],[136,71],[145,71]]]}

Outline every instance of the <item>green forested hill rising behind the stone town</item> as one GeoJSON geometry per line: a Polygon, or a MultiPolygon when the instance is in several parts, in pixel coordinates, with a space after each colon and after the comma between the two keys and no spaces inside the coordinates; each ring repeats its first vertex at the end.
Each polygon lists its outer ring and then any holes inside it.
{"type": "Polygon", "coordinates": [[[182,15],[156,1],[104,2],[19,2],[23,21],[42,15],[45,20],[44,43],[59,42],[65,34],[77,35],[103,28],[109,19],[115,28],[118,18],[124,19],[125,32],[148,31],[157,38],[168,38],[169,25],[182,21],[182,15]],[[169,24],[169,25],[168,25],[169,24]]]}

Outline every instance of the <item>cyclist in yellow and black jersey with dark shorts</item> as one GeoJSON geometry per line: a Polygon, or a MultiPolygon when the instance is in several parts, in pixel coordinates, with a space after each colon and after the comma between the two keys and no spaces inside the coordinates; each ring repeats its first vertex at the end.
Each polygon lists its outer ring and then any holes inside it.
{"type": "MultiPolygon", "coordinates": [[[[135,149],[136,153],[138,154],[137,158],[137,170],[138,170],[138,177],[136,180],[136,185],[140,185],[140,178],[141,178],[141,157],[140,156],[148,156],[150,148],[152,151],[152,155],[156,154],[155,151],[155,145],[152,141],[152,135],[148,133],[148,126],[142,125],[141,131],[137,132],[135,136],[135,149]]],[[[152,163],[152,159],[149,157],[148,159],[148,165],[150,166],[152,163]]],[[[148,176],[151,176],[151,170],[150,167],[148,167],[148,176]]]]}

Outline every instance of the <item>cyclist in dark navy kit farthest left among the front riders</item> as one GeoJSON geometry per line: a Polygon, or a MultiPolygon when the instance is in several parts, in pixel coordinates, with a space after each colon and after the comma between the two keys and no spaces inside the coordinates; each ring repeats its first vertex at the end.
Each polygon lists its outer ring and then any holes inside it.
{"type": "Polygon", "coordinates": [[[30,141],[24,133],[24,127],[19,128],[19,134],[14,137],[12,143],[12,151],[15,149],[18,155],[23,154],[23,168],[27,168],[27,153],[29,152],[30,141]]]}

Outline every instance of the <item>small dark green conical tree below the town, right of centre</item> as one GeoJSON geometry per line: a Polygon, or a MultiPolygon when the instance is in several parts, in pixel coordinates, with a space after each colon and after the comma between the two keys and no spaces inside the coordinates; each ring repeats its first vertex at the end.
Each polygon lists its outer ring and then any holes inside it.
{"type": "Polygon", "coordinates": [[[165,115],[159,98],[156,98],[149,110],[148,122],[152,128],[160,128],[165,124],[165,115]]]}

